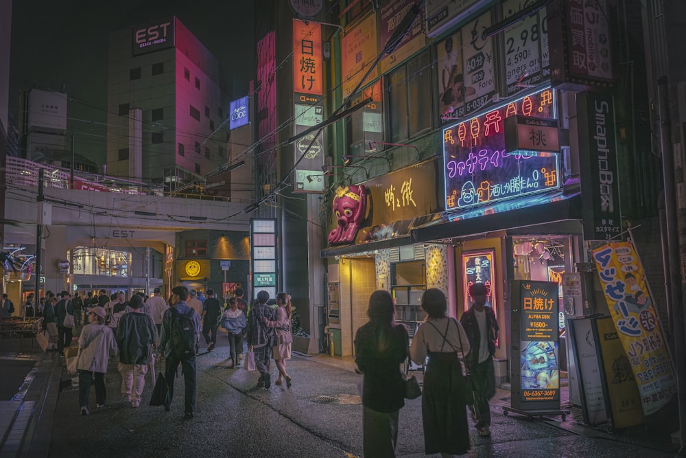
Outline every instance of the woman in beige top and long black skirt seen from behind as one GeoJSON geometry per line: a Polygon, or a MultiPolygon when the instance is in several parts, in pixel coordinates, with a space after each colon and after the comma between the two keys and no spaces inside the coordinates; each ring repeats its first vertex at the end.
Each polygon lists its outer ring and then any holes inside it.
{"type": "Polygon", "coordinates": [[[446,316],[447,301],[441,290],[428,289],[422,296],[427,313],[410,346],[410,358],[425,364],[422,393],[424,451],[441,457],[469,450],[466,417],[466,371],[461,358],[469,353],[469,340],[456,319],[446,316]],[[425,362],[426,361],[426,362],[425,362]]]}

